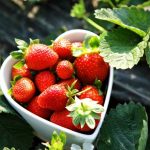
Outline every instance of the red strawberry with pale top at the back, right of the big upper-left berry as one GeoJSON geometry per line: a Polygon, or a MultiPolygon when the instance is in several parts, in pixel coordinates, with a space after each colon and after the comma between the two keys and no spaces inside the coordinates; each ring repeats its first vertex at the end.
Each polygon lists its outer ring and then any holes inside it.
{"type": "Polygon", "coordinates": [[[67,39],[61,39],[53,43],[53,49],[61,59],[72,57],[71,46],[71,42],[67,39]]]}

